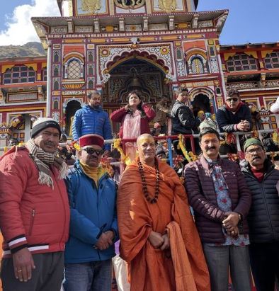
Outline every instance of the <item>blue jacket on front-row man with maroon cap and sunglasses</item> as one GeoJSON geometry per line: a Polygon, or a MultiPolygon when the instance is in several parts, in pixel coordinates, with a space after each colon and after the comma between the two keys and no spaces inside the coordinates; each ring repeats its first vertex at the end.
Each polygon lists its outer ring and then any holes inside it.
{"type": "Polygon", "coordinates": [[[99,251],[93,245],[101,232],[113,230],[118,240],[116,218],[116,186],[108,173],[95,182],[86,176],[79,161],[66,180],[71,210],[69,241],[65,249],[65,263],[105,261],[115,256],[114,245],[99,251]]]}

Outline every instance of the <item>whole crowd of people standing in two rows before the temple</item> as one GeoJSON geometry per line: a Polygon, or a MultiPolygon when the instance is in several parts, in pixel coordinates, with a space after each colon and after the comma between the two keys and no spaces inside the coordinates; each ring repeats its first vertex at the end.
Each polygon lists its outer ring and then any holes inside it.
{"type": "MultiPolygon", "coordinates": [[[[163,98],[153,110],[132,91],[110,115],[120,138],[132,139],[118,181],[100,163],[112,131],[96,91],[74,116],[72,169],[58,155],[62,132],[52,118],[38,118],[28,142],[1,156],[4,291],[108,291],[113,269],[123,291],[227,291],[229,275],[235,291],[250,291],[251,270],[256,290],[274,291],[279,170],[254,137],[243,139],[240,164],[220,157],[220,132],[252,128],[238,91],[227,93],[217,122],[195,116],[188,98],[181,89],[172,108],[163,98]],[[170,118],[172,135],[199,135],[199,159],[183,166],[183,180],[150,134],[155,116],[164,133],[170,118]]],[[[179,155],[176,142],[173,149],[179,155]]]]}

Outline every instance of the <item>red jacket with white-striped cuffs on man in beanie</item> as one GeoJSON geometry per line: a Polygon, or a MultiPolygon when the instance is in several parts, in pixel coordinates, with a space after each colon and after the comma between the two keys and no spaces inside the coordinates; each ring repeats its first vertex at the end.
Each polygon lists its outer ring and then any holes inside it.
{"type": "Polygon", "coordinates": [[[64,251],[69,202],[63,180],[52,168],[52,187],[38,183],[28,149],[13,147],[0,159],[0,228],[4,257],[25,246],[33,253],[64,251]]]}

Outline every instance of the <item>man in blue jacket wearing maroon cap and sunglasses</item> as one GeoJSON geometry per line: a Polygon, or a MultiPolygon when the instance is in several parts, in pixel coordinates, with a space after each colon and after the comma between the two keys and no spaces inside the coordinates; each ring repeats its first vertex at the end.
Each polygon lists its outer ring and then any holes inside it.
{"type": "Polygon", "coordinates": [[[99,166],[103,142],[103,137],[92,134],[79,139],[79,160],[66,181],[71,210],[66,291],[111,290],[118,223],[115,182],[99,166]]]}

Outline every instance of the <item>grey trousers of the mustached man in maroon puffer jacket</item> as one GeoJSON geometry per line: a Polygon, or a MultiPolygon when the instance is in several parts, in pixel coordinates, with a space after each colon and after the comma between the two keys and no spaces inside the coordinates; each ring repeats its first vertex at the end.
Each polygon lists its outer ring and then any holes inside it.
{"type": "Polygon", "coordinates": [[[249,246],[208,246],[203,244],[210,273],[211,291],[227,291],[229,268],[235,291],[251,291],[249,246]]]}

